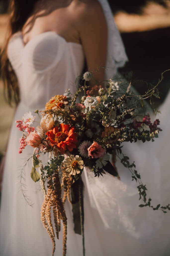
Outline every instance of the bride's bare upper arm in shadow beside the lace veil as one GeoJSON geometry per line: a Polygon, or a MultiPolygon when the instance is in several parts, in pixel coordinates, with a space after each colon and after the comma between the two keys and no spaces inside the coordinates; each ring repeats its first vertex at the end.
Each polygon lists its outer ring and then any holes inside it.
{"type": "MultiPolygon", "coordinates": [[[[88,70],[106,67],[107,22],[97,0],[86,1],[79,12],[79,33],[83,45],[88,70]]],[[[97,81],[104,80],[104,69],[93,73],[97,81]]],[[[94,84],[94,81],[91,81],[94,84]]]]}

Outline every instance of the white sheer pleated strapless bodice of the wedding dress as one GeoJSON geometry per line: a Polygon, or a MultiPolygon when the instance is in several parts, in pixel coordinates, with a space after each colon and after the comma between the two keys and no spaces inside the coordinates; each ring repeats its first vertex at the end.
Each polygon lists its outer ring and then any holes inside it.
{"type": "Polygon", "coordinates": [[[76,91],[74,81],[84,67],[82,45],[47,31],[24,46],[18,32],[10,39],[7,53],[18,78],[21,103],[28,108],[44,108],[54,95],[69,88],[76,91]]]}

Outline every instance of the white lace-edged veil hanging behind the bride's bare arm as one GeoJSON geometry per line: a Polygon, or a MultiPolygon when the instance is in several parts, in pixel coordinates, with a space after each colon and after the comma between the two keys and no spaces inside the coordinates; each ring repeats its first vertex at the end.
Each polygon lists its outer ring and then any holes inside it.
{"type": "Polygon", "coordinates": [[[115,75],[117,68],[125,65],[128,58],[107,0],[98,1],[103,8],[103,12],[108,24],[108,54],[106,66],[109,69],[106,71],[106,79],[109,79],[115,75]]]}

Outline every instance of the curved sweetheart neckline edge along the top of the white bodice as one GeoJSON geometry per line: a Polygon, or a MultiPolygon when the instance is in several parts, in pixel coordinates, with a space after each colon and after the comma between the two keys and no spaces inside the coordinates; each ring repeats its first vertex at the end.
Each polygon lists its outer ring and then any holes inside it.
{"type": "MultiPolygon", "coordinates": [[[[31,39],[28,41],[28,43],[27,43],[26,45],[24,45],[23,36],[22,36],[22,32],[21,32],[21,31],[18,31],[17,33],[15,33],[15,34],[11,37],[11,39],[12,39],[13,37],[17,36],[17,35],[21,36],[23,48],[27,48],[27,46],[28,46],[29,44],[31,44],[31,42],[33,42],[34,40],[36,40],[38,37],[41,37],[41,36],[46,35],[46,34],[47,34],[47,35],[48,35],[48,34],[53,34],[53,35],[55,35],[57,38],[62,39],[62,40],[63,40],[65,43],[67,43],[67,44],[71,44],[71,45],[75,45],[75,46],[78,46],[78,47],[80,47],[80,48],[83,48],[83,45],[82,45],[82,44],[79,44],[79,43],[76,43],[76,42],[68,42],[68,41],[66,41],[66,39],[65,39],[64,37],[60,36],[60,35],[57,34],[55,31],[45,31],[45,32],[43,32],[43,33],[40,33],[40,34],[34,36],[33,38],[31,38],[31,39]]],[[[10,39],[10,40],[11,40],[11,39],[10,39]]],[[[10,42],[10,40],[9,40],[9,42],[10,42]]]]}

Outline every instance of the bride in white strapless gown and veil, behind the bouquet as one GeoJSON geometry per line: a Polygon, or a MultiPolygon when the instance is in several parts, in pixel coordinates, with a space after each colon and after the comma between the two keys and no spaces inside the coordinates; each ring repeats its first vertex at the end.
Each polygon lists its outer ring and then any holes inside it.
{"type": "MultiPolygon", "coordinates": [[[[18,103],[14,120],[26,112],[43,109],[51,97],[68,88],[74,93],[76,88],[71,84],[85,66],[90,70],[108,67],[105,73],[94,73],[95,80],[101,81],[113,77],[127,61],[107,0],[12,0],[10,6],[10,35],[2,64],[9,99],[12,87],[18,103]]],[[[0,252],[1,256],[47,256],[52,244],[40,220],[43,195],[35,193],[38,185],[30,178],[29,166],[21,183],[26,186],[24,192],[32,199],[33,207],[25,206],[22,193],[18,193],[17,170],[32,152],[28,147],[18,154],[19,137],[14,122],[4,166],[0,252]]],[[[159,202],[160,166],[156,156],[148,154],[148,148],[140,147],[130,145],[133,150],[129,152],[126,145],[124,153],[130,153],[132,161],[137,159],[139,172],[159,202]]],[[[136,184],[119,162],[117,168],[121,181],[109,175],[94,178],[86,170],[82,174],[86,255],[169,255],[168,239],[163,238],[164,229],[160,229],[162,215],[138,207],[136,184]]],[[[67,255],[80,256],[82,238],[73,231],[69,202],[65,207],[67,255]]],[[[165,231],[168,236],[169,231],[165,231]]],[[[62,255],[61,237],[56,241],[55,255],[62,255]]]]}

